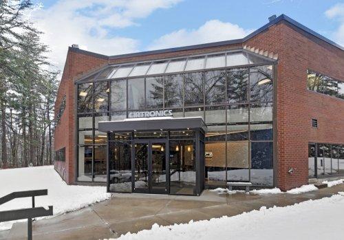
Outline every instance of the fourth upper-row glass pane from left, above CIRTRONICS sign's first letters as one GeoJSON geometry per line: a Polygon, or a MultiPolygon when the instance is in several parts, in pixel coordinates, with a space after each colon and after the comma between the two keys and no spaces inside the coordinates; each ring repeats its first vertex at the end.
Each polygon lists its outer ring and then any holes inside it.
{"type": "Polygon", "coordinates": [[[128,80],[129,110],[144,109],[144,78],[128,80]]]}

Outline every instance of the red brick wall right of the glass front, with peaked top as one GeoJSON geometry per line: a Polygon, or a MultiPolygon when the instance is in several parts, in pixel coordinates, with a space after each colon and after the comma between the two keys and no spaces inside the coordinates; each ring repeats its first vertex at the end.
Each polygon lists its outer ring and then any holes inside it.
{"type": "Polygon", "coordinates": [[[281,22],[246,43],[279,54],[277,154],[283,190],[307,184],[308,142],[344,143],[344,101],[308,91],[306,74],[309,68],[344,80],[344,51],[301,31],[281,22]],[[312,118],[319,129],[312,128],[312,118]]]}

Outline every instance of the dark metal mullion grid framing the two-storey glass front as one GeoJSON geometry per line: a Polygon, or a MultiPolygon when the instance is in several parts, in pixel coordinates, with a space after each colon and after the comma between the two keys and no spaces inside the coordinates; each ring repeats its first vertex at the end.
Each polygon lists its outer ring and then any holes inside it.
{"type": "MultiPolygon", "coordinates": [[[[225,60],[227,60],[227,58],[225,58],[225,60]]],[[[184,65],[184,68],[186,67],[186,64],[187,64],[187,59],[186,59],[186,62],[185,62],[185,65],[184,65]]],[[[277,158],[277,62],[276,63],[273,63],[273,64],[267,64],[267,63],[264,63],[264,64],[246,64],[246,65],[239,65],[239,66],[234,66],[234,67],[222,67],[222,68],[217,68],[217,69],[202,69],[202,70],[195,70],[195,71],[181,71],[181,72],[176,72],[176,73],[162,73],[162,74],[156,74],[156,75],[149,75],[149,76],[134,76],[134,77],[125,77],[125,78],[118,78],[118,79],[106,79],[106,80],[92,80],[92,81],[88,81],[88,82],[76,82],[76,96],[78,95],[78,85],[79,84],[85,84],[85,83],[96,83],[96,82],[108,82],[108,86],[109,86],[109,93],[108,93],[108,110],[107,112],[103,112],[103,113],[107,113],[107,117],[109,119],[109,121],[111,121],[111,113],[112,112],[126,112],[127,113],[127,118],[128,118],[128,114],[129,112],[131,111],[137,111],[137,110],[129,110],[128,109],[128,80],[129,79],[135,79],[135,78],[144,78],[144,106],[146,106],[146,94],[145,94],[145,88],[146,88],[146,81],[145,81],[145,78],[146,77],[164,77],[165,75],[178,75],[178,74],[183,74],[183,73],[200,73],[202,72],[202,76],[203,76],[203,80],[202,80],[202,84],[203,84],[203,88],[204,88],[204,82],[205,82],[205,73],[208,72],[208,71],[226,71],[226,102],[224,104],[214,104],[214,105],[206,105],[205,104],[205,93],[204,93],[204,89],[203,89],[203,104],[202,105],[197,105],[197,106],[184,106],[184,77],[182,77],[183,79],[183,96],[182,96],[182,107],[177,107],[177,108],[168,108],[168,109],[182,109],[182,112],[183,112],[183,117],[185,117],[185,109],[186,108],[203,108],[203,118],[204,118],[204,121],[206,121],[206,114],[205,114],[205,111],[206,111],[206,107],[215,107],[215,106],[224,106],[226,108],[226,132],[227,132],[227,109],[228,109],[228,106],[243,106],[243,105],[248,105],[248,142],[249,142],[249,146],[248,146],[248,165],[249,165],[249,180],[251,180],[251,174],[250,174],[250,169],[251,169],[251,143],[252,142],[272,142],[273,143],[273,178],[274,178],[274,181],[273,181],[273,186],[276,187],[277,186],[277,162],[278,162],[278,158],[277,158]],[[252,68],[255,68],[255,67],[264,67],[264,66],[272,66],[272,101],[250,101],[250,69],[252,68]],[[228,96],[227,96],[227,84],[228,84],[228,74],[227,74],[227,71],[230,71],[230,70],[233,70],[233,69],[248,69],[248,93],[247,93],[247,101],[245,102],[238,102],[238,103],[228,103],[228,96]],[[126,85],[127,85],[127,88],[126,88],[126,102],[127,102],[127,110],[123,110],[123,111],[111,111],[111,82],[112,81],[117,81],[117,80],[125,80],[126,81],[126,85]],[[272,140],[271,141],[251,141],[250,140],[250,106],[251,105],[254,105],[254,104],[272,104],[272,121],[271,121],[271,124],[272,124],[272,132],[273,132],[273,136],[272,136],[272,140]]],[[[95,77],[96,78],[96,77],[95,77]]],[[[164,77],[164,82],[165,82],[165,77],[164,77]]],[[[165,86],[165,84],[164,84],[165,86]]],[[[163,89],[164,89],[164,86],[163,86],[163,89]]],[[[77,101],[76,101],[76,130],[78,131],[78,117],[80,115],[85,115],[85,114],[92,114],[92,125],[93,125],[93,141],[94,141],[94,131],[96,130],[94,128],[94,115],[96,115],[97,113],[100,113],[100,112],[95,112],[94,111],[94,84],[93,84],[93,96],[92,96],[92,102],[93,102],[93,111],[92,112],[77,112],[78,110],[78,106],[77,106],[77,101]]],[[[164,95],[164,92],[165,90],[163,91],[163,108],[162,109],[166,109],[164,104],[165,104],[165,95],[164,95]]],[[[77,99],[77,97],[76,97],[77,99]]],[[[144,110],[154,110],[154,109],[144,109],[144,110]]],[[[155,110],[161,110],[161,108],[155,108],[155,110]]],[[[138,110],[140,111],[140,110],[138,110]]],[[[141,110],[142,111],[142,110],[141,110]]],[[[226,141],[226,149],[228,147],[227,145],[227,142],[226,141]]],[[[76,132],[76,146],[78,147],[78,132],[76,132]]],[[[77,150],[77,148],[76,148],[77,150]]],[[[94,151],[94,149],[93,149],[94,151]]],[[[77,181],[77,176],[78,176],[78,151],[76,151],[76,182],[77,181]]],[[[94,175],[94,156],[93,156],[93,160],[92,160],[92,176],[94,175]]],[[[227,169],[227,151],[226,151],[226,169],[227,169]]],[[[226,180],[228,179],[228,176],[227,176],[227,171],[226,171],[226,180]]],[[[93,182],[93,178],[92,178],[92,182],[93,182]]]]}

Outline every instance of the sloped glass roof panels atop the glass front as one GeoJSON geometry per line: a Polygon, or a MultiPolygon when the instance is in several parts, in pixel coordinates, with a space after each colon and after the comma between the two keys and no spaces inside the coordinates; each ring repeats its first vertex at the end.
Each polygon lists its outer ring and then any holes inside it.
{"type": "Polygon", "coordinates": [[[182,73],[184,71],[210,70],[225,67],[236,67],[250,64],[274,64],[276,60],[266,58],[244,49],[223,53],[208,53],[188,58],[162,59],[151,62],[130,64],[112,64],[96,73],[83,77],[78,82],[105,80],[125,77],[144,77],[164,73],[182,73]]]}

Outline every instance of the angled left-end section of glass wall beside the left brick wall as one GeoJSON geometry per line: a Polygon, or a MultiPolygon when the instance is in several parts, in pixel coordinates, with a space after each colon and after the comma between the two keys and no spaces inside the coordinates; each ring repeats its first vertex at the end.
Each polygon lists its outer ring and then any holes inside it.
{"type": "Polygon", "coordinates": [[[106,182],[107,134],[98,122],[109,119],[109,82],[78,84],[78,181],[106,182]]]}

